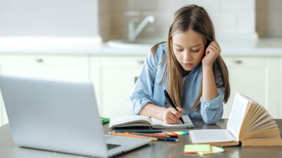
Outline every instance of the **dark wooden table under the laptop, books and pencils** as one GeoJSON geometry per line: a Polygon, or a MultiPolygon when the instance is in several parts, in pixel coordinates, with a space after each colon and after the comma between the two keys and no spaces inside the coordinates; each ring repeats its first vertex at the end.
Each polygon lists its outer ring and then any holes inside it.
{"type": "MultiPolygon", "coordinates": [[[[202,121],[194,120],[194,129],[226,129],[226,119],[222,119],[215,125],[207,125],[202,121]]],[[[282,131],[282,119],[276,119],[276,122],[282,131]]],[[[166,130],[166,131],[180,131],[177,130],[166,130]]],[[[187,129],[183,129],[187,130],[187,129]]],[[[108,133],[108,124],[104,124],[104,132],[108,133]]],[[[282,136],[282,135],[281,135],[282,136]]],[[[190,144],[190,137],[188,135],[180,136],[179,142],[168,142],[168,141],[156,141],[150,145],[140,147],[136,150],[122,154],[119,157],[140,157],[140,158],[180,158],[180,157],[197,157],[197,154],[183,154],[184,145],[190,144]]],[[[282,146],[271,146],[271,147],[224,147],[225,152],[221,154],[210,154],[205,155],[204,158],[210,157],[224,157],[224,158],[282,158],[282,146]]],[[[47,152],[42,150],[32,150],[22,147],[16,147],[13,144],[11,138],[10,127],[8,124],[1,126],[0,128],[0,157],[2,158],[33,158],[33,157],[44,157],[44,158],[63,158],[63,157],[80,157],[72,154],[61,154],[56,152],[47,152]]]]}

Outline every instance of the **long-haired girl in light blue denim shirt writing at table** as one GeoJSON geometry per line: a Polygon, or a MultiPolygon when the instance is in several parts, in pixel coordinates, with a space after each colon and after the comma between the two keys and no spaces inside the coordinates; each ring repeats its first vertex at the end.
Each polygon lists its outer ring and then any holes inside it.
{"type": "Polygon", "coordinates": [[[228,70],[204,8],[184,6],[173,16],[168,41],[152,47],[130,96],[131,112],[176,124],[182,114],[215,124],[230,96],[228,70]],[[177,110],[164,96],[168,91],[177,110]]]}

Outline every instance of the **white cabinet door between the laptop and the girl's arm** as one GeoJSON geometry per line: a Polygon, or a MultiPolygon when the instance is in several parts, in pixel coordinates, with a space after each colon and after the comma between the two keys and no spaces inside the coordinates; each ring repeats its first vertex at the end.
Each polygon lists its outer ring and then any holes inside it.
{"type": "Polygon", "coordinates": [[[91,77],[101,116],[118,117],[131,114],[128,97],[144,60],[145,56],[92,58],[91,77]]]}

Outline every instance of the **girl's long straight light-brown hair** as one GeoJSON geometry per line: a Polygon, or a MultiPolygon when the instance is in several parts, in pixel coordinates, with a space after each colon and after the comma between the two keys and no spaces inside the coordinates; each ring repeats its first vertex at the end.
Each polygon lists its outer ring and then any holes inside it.
{"type": "MultiPolygon", "coordinates": [[[[160,83],[164,79],[164,74],[167,71],[167,91],[171,96],[171,100],[178,106],[182,107],[181,98],[183,95],[183,67],[181,67],[180,63],[176,60],[176,56],[173,53],[173,49],[171,48],[169,41],[172,40],[174,34],[179,32],[186,32],[188,29],[192,29],[195,32],[202,34],[205,49],[209,44],[215,40],[214,34],[214,25],[212,23],[211,18],[209,18],[209,14],[204,10],[201,6],[197,5],[188,5],[183,6],[178,9],[176,13],[174,13],[173,21],[171,22],[171,26],[168,32],[168,52],[166,59],[164,60],[165,69],[163,72],[163,77],[160,83]]],[[[159,44],[162,44],[161,42],[159,44]]],[[[152,54],[156,52],[159,44],[155,44],[151,51],[152,54]]],[[[201,64],[201,63],[200,63],[201,64]]],[[[202,68],[202,65],[201,65],[202,68]]],[[[216,77],[216,71],[220,70],[222,75],[222,84],[216,83],[217,87],[224,88],[224,98],[223,103],[227,103],[228,98],[230,96],[230,84],[228,78],[228,69],[223,59],[219,55],[216,58],[213,64],[214,77],[216,77]]],[[[200,84],[200,91],[197,94],[197,99],[192,106],[192,110],[194,110],[198,105],[200,105],[200,97],[202,96],[202,81],[200,84]]]]}

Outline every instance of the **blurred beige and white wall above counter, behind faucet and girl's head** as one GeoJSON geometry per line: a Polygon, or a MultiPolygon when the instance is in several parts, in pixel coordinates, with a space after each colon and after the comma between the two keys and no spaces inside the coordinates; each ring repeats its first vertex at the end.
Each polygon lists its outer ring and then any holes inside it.
{"type": "Polygon", "coordinates": [[[171,16],[187,4],[207,9],[218,37],[282,37],[282,1],[279,0],[102,0],[99,1],[99,32],[104,40],[123,39],[127,36],[130,20],[154,15],[155,22],[147,25],[140,36],[166,37],[171,16]]]}

